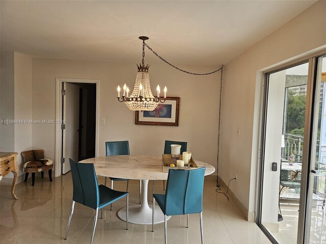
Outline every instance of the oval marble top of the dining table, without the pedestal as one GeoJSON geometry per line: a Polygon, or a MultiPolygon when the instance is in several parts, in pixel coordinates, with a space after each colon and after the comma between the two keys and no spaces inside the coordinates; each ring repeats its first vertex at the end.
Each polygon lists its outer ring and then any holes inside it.
{"type": "MultiPolygon", "coordinates": [[[[168,173],[162,172],[162,155],[122,155],[86,159],[80,163],[93,163],[96,174],[105,177],[125,179],[167,179],[168,173]]],[[[210,164],[197,161],[198,167],[206,167],[205,175],[212,174],[215,168],[210,164]]]]}

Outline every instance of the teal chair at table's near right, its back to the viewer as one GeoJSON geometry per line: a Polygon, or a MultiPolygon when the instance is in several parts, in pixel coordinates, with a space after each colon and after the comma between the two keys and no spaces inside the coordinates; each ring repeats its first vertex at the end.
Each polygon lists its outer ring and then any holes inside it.
{"type": "Polygon", "coordinates": [[[153,207],[152,231],[154,231],[155,200],[164,214],[165,243],[168,243],[167,216],[187,215],[187,228],[189,214],[200,214],[200,233],[202,244],[203,236],[203,188],[206,168],[194,170],[170,169],[166,194],[154,194],[153,181],[153,207]]]}

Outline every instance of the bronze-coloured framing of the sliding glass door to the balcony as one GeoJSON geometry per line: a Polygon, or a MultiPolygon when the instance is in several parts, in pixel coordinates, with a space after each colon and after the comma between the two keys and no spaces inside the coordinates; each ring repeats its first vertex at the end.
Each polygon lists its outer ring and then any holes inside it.
{"type": "MultiPolygon", "coordinates": [[[[256,212],[257,218],[256,223],[268,239],[272,243],[278,243],[276,239],[268,232],[268,230],[261,224],[261,210],[262,210],[262,189],[263,189],[263,170],[264,170],[264,153],[265,153],[265,130],[266,130],[266,111],[268,101],[268,78],[269,75],[284,69],[288,69],[303,63],[308,62],[308,80],[307,80],[307,94],[306,94],[306,113],[305,113],[305,126],[304,126],[304,146],[303,146],[303,158],[302,158],[302,178],[301,178],[301,192],[300,192],[300,209],[298,217],[298,230],[297,230],[297,243],[309,243],[310,240],[310,220],[311,220],[311,209],[312,209],[312,191],[313,183],[311,181],[314,178],[314,174],[311,164],[312,151],[312,139],[313,139],[313,128],[314,128],[314,105],[315,105],[315,94],[317,87],[316,71],[317,71],[317,60],[320,56],[326,54],[326,50],[304,56],[296,59],[294,62],[286,63],[281,66],[275,67],[262,72],[262,94],[261,94],[261,116],[260,116],[260,139],[259,139],[259,150],[258,150],[258,167],[257,167],[257,203],[256,212]]],[[[280,166],[278,166],[280,167],[280,166]]]]}

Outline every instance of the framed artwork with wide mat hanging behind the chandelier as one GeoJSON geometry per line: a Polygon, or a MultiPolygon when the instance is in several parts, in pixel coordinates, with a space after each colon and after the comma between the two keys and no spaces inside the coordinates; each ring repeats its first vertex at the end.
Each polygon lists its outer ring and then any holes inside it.
{"type": "Polygon", "coordinates": [[[136,125],[179,126],[180,98],[167,97],[153,111],[136,111],[136,125]]]}

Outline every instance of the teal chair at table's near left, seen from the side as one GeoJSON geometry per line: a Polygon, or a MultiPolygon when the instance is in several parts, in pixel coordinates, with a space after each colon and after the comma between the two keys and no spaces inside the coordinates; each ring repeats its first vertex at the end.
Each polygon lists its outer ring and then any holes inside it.
{"type": "Polygon", "coordinates": [[[115,191],[103,185],[98,186],[94,164],[76,163],[71,159],[69,159],[69,161],[72,175],[73,196],[65,240],[68,237],[68,231],[71,223],[71,217],[73,214],[75,202],[78,202],[96,210],[91,243],[93,243],[98,210],[102,210],[102,208],[104,208],[108,204],[111,204],[123,197],[127,197],[126,229],[128,230],[128,193],[115,191]]]}

